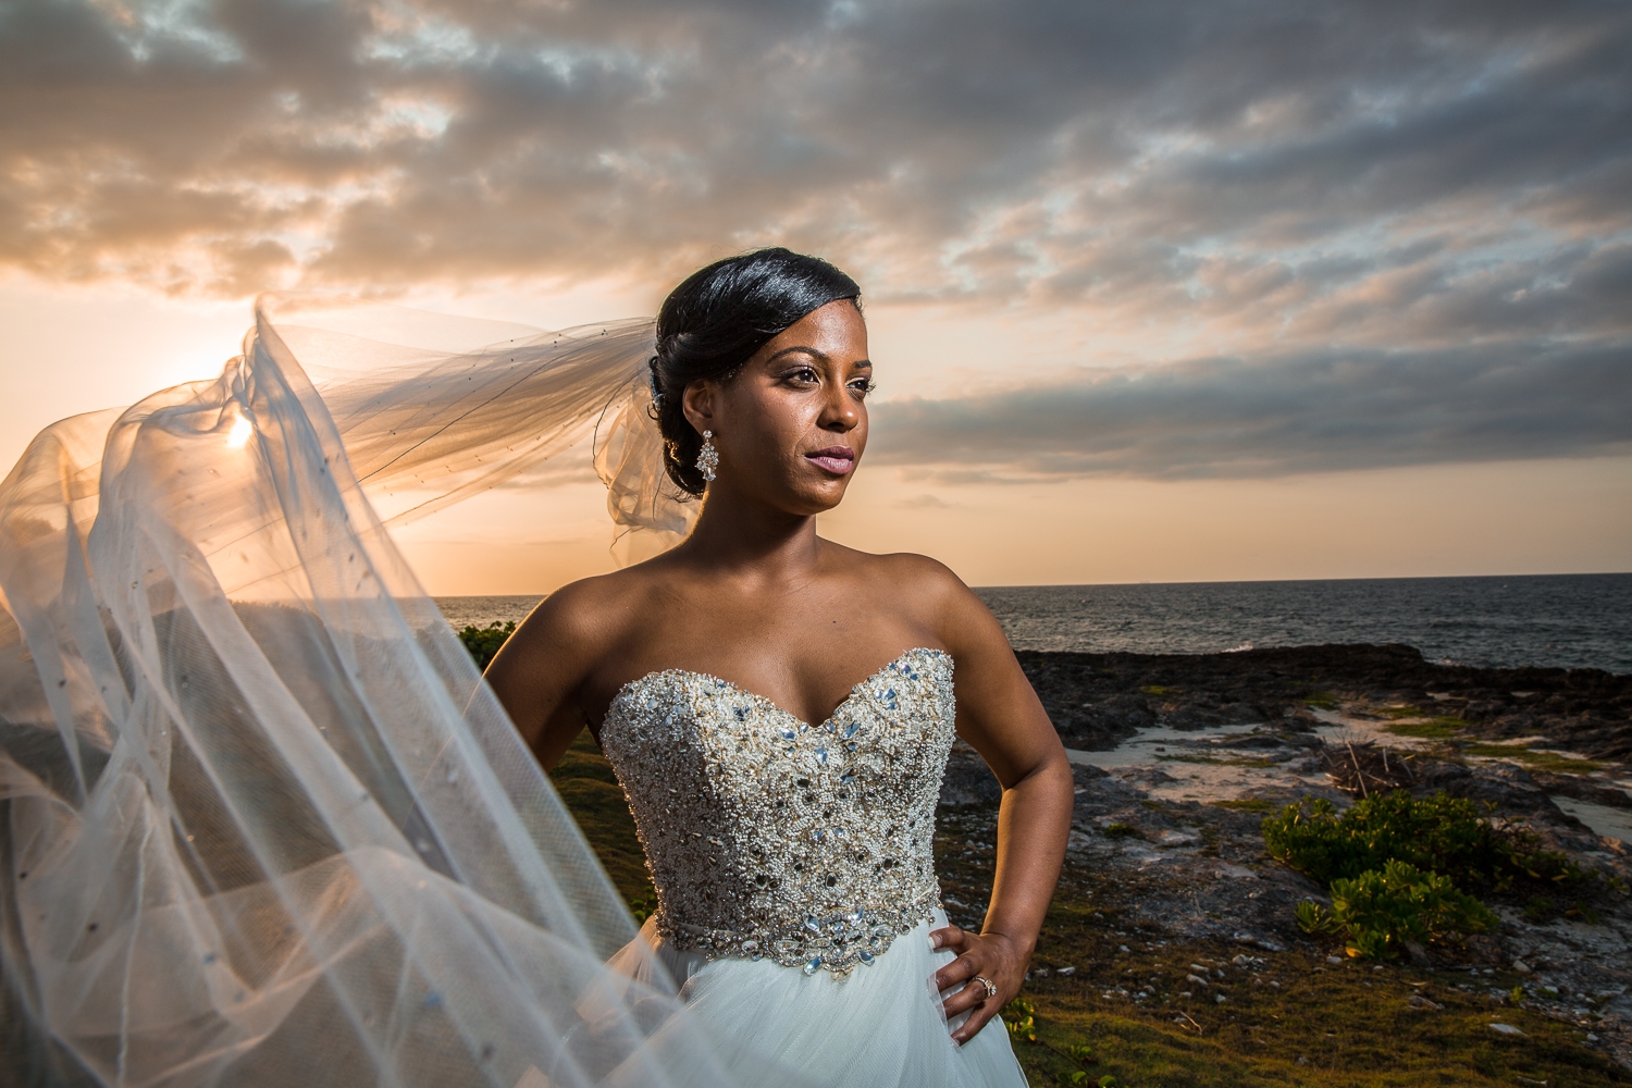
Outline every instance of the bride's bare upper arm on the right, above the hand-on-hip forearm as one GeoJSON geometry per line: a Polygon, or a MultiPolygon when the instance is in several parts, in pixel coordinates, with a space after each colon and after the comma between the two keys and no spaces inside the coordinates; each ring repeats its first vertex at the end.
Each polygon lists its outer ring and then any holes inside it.
{"type": "Polygon", "coordinates": [[[1009,638],[991,608],[950,569],[934,559],[922,577],[930,586],[935,628],[956,667],[958,736],[969,742],[1004,788],[1064,762],[1059,734],[1031,690],[1009,638]]]}

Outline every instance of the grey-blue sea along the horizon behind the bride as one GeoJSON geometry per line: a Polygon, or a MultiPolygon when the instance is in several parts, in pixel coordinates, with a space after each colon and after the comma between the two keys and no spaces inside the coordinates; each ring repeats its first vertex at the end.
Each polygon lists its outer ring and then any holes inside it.
{"type": "MultiPolygon", "coordinates": [[[[1407,643],[1431,661],[1632,672],[1632,574],[1379,577],[978,589],[1018,649],[1206,654],[1407,643]]],[[[539,597],[439,597],[454,626],[521,620],[539,597]]]]}

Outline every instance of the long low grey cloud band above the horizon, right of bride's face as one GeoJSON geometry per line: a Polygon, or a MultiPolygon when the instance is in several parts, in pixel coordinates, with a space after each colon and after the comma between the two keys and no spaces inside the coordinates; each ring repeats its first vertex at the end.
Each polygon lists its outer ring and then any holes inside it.
{"type": "Polygon", "coordinates": [[[960,481],[1283,476],[1632,452],[1632,349],[1322,351],[1198,359],[871,409],[870,462],[960,481]]]}

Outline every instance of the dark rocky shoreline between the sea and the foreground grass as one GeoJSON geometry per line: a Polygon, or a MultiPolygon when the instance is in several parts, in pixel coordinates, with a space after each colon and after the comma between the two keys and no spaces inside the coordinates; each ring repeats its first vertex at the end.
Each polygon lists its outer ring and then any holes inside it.
{"type": "MultiPolygon", "coordinates": [[[[1263,817],[1309,796],[1346,806],[1376,789],[1444,789],[1609,881],[1591,902],[1557,909],[1490,902],[1497,931],[1394,967],[1415,972],[1410,985],[1441,987],[1438,1002],[1413,990],[1410,1008],[1431,1015],[1444,993],[1523,1006],[1632,1070],[1632,856],[1624,835],[1601,834],[1632,814],[1632,675],[1438,666],[1408,646],[1018,657],[1075,763],[1062,891],[1077,889],[1093,904],[1089,917],[1113,927],[1084,930],[1089,948],[1103,944],[1103,962],[1072,938],[1062,946],[1087,962],[1051,964],[1044,941],[1033,972],[1041,992],[1080,988],[1090,1008],[1160,1005],[1190,1018],[1203,988],[1195,972],[1172,985],[1157,972],[1138,990],[1106,974],[1139,954],[1131,943],[1152,954],[1235,949],[1216,959],[1240,985],[1268,987],[1278,959],[1324,962],[1333,941],[1304,935],[1293,913],[1302,899],[1324,902],[1324,889],[1268,856],[1263,817]]],[[[956,842],[982,838],[974,824],[994,816],[996,796],[979,757],[960,747],[942,794],[956,842]]],[[[978,923],[984,866],[978,850],[960,850],[971,865],[943,863],[948,913],[978,923]]],[[[1371,971],[1343,959],[1324,969],[1371,971]]],[[[1221,980],[1208,988],[1219,998],[1221,980]]]]}

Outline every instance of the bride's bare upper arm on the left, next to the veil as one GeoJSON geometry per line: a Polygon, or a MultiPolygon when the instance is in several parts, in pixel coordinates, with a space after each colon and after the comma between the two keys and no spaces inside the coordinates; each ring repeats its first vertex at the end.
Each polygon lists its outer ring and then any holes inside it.
{"type": "Polygon", "coordinates": [[[583,688],[610,643],[604,586],[558,589],[509,636],[483,677],[545,770],[584,729],[583,688]]]}

